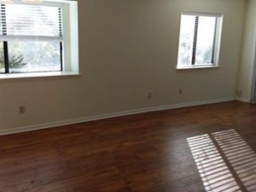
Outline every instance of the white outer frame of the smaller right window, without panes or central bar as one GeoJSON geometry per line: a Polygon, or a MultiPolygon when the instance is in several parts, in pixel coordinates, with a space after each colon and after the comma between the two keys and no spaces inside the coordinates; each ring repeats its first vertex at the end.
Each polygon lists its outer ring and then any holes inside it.
{"type": "Polygon", "coordinates": [[[179,40],[178,40],[178,54],[177,54],[177,69],[191,69],[191,68],[214,68],[218,67],[219,53],[221,47],[221,38],[222,38],[222,28],[223,28],[223,14],[214,14],[214,13],[201,13],[201,12],[183,12],[180,16],[180,31],[179,31],[179,40]],[[181,44],[181,33],[182,33],[182,16],[191,15],[191,16],[208,16],[208,17],[218,17],[218,26],[216,31],[216,40],[215,40],[215,49],[214,49],[214,60],[212,64],[205,65],[183,65],[180,63],[179,58],[181,55],[180,44],[181,44]]]}

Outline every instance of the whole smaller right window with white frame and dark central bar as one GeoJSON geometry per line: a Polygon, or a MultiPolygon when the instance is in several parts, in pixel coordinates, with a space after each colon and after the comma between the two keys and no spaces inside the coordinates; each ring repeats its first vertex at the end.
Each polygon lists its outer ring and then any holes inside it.
{"type": "Polygon", "coordinates": [[[177,68],[217,67],[222,15],[182,14],[177,68]]]}

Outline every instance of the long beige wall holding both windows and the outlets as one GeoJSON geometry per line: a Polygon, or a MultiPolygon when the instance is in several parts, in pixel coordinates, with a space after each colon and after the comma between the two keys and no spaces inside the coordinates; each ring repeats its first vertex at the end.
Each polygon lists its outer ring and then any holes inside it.
{"type": "Polygon", "coordinates": [[[233,97],[244,11],[243,0],[80,0],[82,75],[1,80],[0,129],[233,97]],[[176,70],[182,11],[224,14],[219,68],[176,70]]]}

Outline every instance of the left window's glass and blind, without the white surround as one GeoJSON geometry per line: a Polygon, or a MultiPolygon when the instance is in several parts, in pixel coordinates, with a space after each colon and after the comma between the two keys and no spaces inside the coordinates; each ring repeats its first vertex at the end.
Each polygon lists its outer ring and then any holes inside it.
{"type": "Polygon", "coordinates": [[[0,73],[61,71],[61,5],[0,6],[0,73]]]}

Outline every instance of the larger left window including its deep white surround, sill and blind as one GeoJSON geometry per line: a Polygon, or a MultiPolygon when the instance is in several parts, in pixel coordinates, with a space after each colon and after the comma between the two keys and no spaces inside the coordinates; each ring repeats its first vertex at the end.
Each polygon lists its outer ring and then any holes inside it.
{"type": "Polygon", "coordinates": [[[0,3],[0,80],[79,75],[77,0],[0,3]]]}

